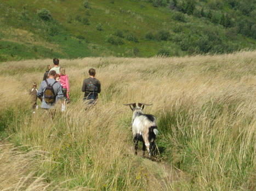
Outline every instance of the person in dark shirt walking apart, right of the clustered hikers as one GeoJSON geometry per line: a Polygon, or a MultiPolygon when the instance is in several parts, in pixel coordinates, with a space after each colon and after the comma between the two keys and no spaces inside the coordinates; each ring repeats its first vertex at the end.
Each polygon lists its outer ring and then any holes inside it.
{"type": "Polygon", "coordinates": [[[83,100],[89,100],[88,104],[95,104],[98,93],[101,91],[100,81],[95,78],[95,69],[89,69],[88,73],[89,77],[84,79],[82,86],[82,92],[84,92],[83,100]]]}

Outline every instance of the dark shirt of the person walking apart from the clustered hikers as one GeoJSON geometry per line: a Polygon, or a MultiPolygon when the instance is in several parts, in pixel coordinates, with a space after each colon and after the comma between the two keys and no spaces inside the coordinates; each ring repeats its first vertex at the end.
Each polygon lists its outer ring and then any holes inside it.
{"type": "Polygon", "coordinates": [[[95,77],[88,77],[84,79],[82,92],[84,92],[84,98],[88,97],[90,93],[95,93],[96,97],[98,97],[98,93],[100,93],[100,81],[95,77]]]}

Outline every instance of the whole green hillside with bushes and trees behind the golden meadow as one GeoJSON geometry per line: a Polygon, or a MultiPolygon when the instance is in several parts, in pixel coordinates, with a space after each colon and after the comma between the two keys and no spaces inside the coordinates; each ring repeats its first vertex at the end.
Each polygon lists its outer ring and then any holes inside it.
{"type": "Polygon", "coordinates": [[[1,0],[0,18],[0,61],[256,47],[252,0],[1,0]]]}

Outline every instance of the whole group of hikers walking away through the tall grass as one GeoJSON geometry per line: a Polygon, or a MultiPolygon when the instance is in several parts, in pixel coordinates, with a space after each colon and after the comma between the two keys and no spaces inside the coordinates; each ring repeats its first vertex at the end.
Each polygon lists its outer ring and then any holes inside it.
{"type": "MultiPolygon", "coordinates": [[[[53,67],[47,66],[43,76],[39,89],[37,90],[37,84],[34,82],[31,94],[31,104],[33,114],[38,108],[37,99],[40,99],[42,104],[41,108],[48,110],[53,108],[56,103],[61,103],[61,111],[64,112],[66,104],[70,102],[69,92],[69,77],[66,75],[65,68],[59,66],[59,59],[53,59],[53,67]]],[[[82,92],[84,92],[84,101],[89,105],[95,105],[98,99],[98,93],[100,93],[100,81],[95,78],[96,71],[91,68],[88,71],[89,77],[84,79],[82,85],[82,92]]]]}

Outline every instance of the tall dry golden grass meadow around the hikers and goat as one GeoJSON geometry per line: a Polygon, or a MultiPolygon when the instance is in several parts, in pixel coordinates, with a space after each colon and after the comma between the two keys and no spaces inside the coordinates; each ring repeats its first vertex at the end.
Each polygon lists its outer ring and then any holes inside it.
{"type": "Polygon", "coordinates": [[[0,190],[256,189],[256,51],[61,59],[71,103],[54,118],[32,115],[28,92],[51,63],[0,64],[0,190]],[[81,87],[91,67],[102,92],[88,110],[81,87]],[[122,105],[131,102],[153,104],[156,162],[134,156],[122,105]]]}

